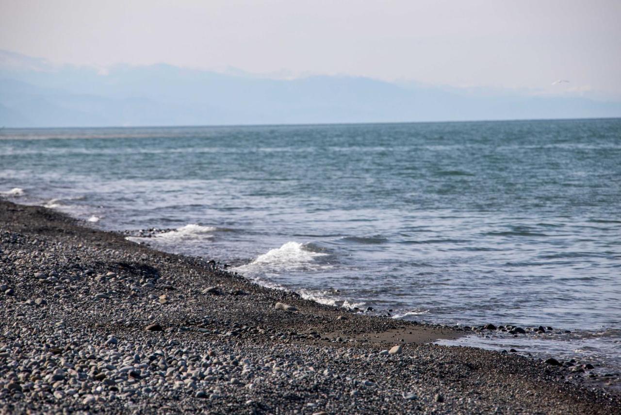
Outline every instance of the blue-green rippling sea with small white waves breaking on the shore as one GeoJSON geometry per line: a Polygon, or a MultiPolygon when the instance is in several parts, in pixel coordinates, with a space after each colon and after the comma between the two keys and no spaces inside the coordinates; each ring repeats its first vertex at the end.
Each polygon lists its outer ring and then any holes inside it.
{"type": "Polygon", "coordinates": [[[621,366],[620,119],[3,129],[0,190],[322,303],[553,326],[461,341],[621,366]]]}

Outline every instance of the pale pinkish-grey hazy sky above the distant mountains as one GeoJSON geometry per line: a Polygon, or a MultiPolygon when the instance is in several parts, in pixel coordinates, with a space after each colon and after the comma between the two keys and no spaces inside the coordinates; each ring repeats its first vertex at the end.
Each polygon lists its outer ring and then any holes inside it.
{"type": "Polygon", "coordinates": [[[0,0],[0,48],[621,98],[619,0],[0,0]]]}

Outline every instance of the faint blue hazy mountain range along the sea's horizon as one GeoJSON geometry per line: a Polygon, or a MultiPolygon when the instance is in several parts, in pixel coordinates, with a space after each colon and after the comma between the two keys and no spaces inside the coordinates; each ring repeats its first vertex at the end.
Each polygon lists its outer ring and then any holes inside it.
{"type": "Polygon", "coordinates": [[[0,50],[0,127],[314,124],[619,117],[621,103],[396,84],[275,80],[158,64],[107,71],[0,50]]]}

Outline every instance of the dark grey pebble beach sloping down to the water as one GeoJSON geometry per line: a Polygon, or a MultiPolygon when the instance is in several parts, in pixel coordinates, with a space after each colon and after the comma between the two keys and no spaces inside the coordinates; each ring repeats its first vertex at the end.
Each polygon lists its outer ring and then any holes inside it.
{"type": "Polygon", "coordinates": [[[617,394],[463,329],[324,306],[0,201],[3,413],[589,413],[617,394]]]}

